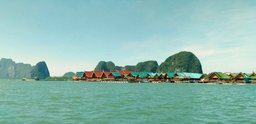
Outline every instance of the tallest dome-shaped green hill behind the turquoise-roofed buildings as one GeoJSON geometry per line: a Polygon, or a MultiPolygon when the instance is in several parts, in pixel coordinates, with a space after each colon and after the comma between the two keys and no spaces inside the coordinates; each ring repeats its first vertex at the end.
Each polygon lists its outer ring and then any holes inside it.
{"type": "Polygon", "coordinates": [[[157,72],[203,73],[200,61],[192,52],[179,52],[170,56],[158,66],[157,72]]]}

